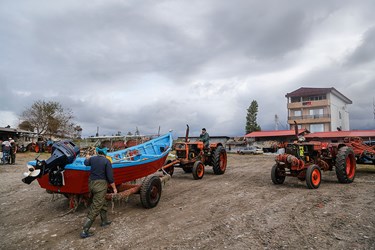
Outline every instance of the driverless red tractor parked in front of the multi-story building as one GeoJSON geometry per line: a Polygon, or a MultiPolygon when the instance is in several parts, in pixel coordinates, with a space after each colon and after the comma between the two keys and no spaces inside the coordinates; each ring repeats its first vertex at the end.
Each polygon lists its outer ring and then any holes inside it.
{"type": "Polygon", "coordinates": [[[356,172],[356,157],[351,147],[344,143],[311,141],[289,143],[285,153],[276,156],[276,164],[271,170],[274,184],[284,183],[286,176],[306,181],[310,189],[318,188],[321,171],[335,168],[337,179],[341,183],[351,183],[356,172]]]}

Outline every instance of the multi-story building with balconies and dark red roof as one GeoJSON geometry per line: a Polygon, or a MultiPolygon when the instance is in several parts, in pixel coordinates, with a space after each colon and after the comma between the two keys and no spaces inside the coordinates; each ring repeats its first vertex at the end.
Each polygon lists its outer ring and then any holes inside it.
{"type": "Polygon", "coordinates": [[[335,88],[299,88],[285,95],[288,124],[310,132],[349,130],[347,105],[352,101],[335,88]]]}

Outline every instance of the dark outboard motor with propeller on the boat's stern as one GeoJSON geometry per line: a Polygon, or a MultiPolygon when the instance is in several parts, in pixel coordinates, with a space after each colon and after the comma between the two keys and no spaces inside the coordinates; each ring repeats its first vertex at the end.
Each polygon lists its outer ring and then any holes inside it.
{"type": "Polygon", "coordinates": [[[64,140],[52,145],[51,157],[47,160],[36,160],[35,166],[28,165],[28,172],[24,173],[22,181],[30,184],[36,178],[49,173],[49,181],[52,185],[63,186],[62,172],[67,164],[73,163],[79,155],[79,148],[71,141],[64,140]]]}

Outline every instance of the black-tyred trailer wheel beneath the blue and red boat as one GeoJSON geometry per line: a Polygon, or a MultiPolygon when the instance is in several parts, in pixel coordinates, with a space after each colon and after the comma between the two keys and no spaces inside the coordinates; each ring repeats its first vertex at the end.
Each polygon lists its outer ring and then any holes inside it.
{"type": "Polygon", "coordinates": [[[161,181],[158,176],[147,176],[142,182],[141,203],[144,208],[153,208],[159,203],[161,197],[161,181]]]}

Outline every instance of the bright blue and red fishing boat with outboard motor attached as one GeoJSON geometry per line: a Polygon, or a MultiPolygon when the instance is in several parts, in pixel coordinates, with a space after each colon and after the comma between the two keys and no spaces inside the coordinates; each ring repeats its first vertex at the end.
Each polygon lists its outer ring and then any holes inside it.
{"type": "MultiPolygon", "coordinates": [[[[135,192],[139,192],[141,185],[126,186],[124,183],[147,177],[161,169],[172,148],[172,142],[170,132],[130,148],[109,152],[107,157],[112,161],[113,177],[119,191],[133,188],[135,192]]],[[[41,188],[50,193],[64,194],[71,199],[70,206],[76,206],[78,199],[89,196],[88,179],[90,175],[90,166],[84,164],[85,157],[76,157],[76,155],[79,155],[79,149],[72,142],[63,141],[54,144],[49,159],[28,162],[28,172],[24,173],[23,181],[30,184],[34,179],[37,179],[41,188]]],[[[145,188],[151,189],[151,191],[154,189],[155,192],[156,185],[156,188],[160,189],[156,190],[159,193],[159,199],[161,184],[159,185],[155,178],[153,181],[147,180],[147,182],[151,182],[151,187],[145,188]],[[155,182],[154,185],[153,182],[155,182]],[[158,188],[159,186],[160,188],[158,188]]],[[[156,204],[143,205],[153,207],[156,204]]]]}

